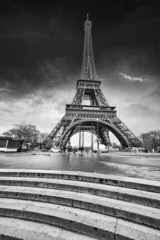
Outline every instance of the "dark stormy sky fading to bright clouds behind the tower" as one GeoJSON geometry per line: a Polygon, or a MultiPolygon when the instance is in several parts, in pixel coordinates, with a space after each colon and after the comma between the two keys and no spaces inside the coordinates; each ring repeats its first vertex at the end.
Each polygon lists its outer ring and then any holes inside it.
{"type": "Polygon", "coordinates": [[[136,135],[160,130],[159,0],[1,0],[0,134],[50,132],[72,102],[89,13],[98,80],[136,135]]]}

